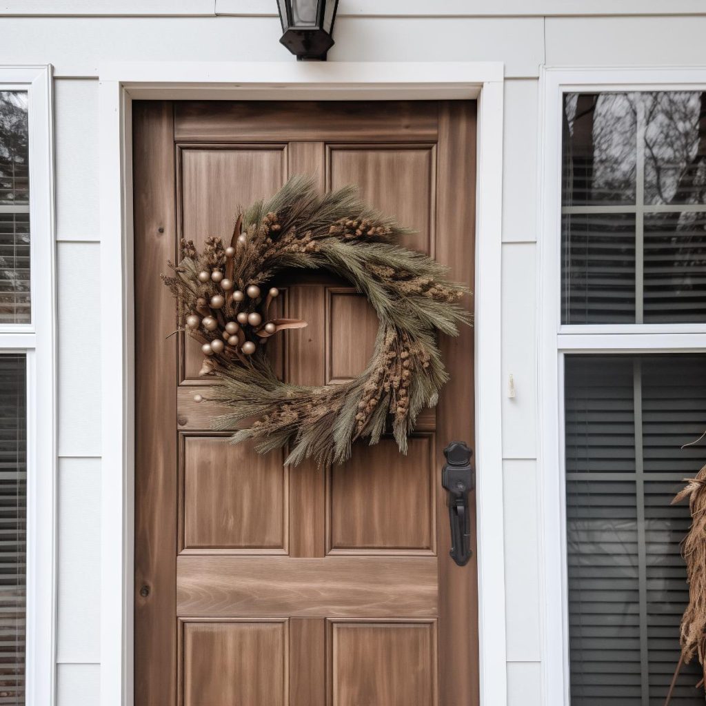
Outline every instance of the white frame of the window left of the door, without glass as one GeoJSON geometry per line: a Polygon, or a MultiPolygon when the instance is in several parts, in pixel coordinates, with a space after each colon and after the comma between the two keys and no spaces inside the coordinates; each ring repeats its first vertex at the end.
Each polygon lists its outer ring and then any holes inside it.
{"type": "Polygon", "coordinates": [[[55,691],[56,295],[51,66],[1,66],[0,90],[28,93],[31,322],[0,324],[0,354],[26,355],[27,606],[25,702],[55,691]]]}

